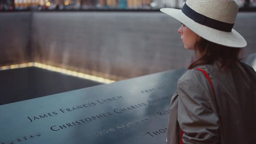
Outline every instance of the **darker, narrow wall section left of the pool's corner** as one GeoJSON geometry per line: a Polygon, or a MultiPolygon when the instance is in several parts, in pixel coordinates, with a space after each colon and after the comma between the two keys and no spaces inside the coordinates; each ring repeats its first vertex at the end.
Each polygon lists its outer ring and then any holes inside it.
{"type": "Polygon", "coordinates": [[[0,13],[0,65],[32,61],[31,12],[0,13]]]}

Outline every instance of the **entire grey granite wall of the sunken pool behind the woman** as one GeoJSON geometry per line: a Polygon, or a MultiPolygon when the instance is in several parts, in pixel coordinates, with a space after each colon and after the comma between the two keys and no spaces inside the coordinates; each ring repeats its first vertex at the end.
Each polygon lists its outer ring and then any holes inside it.
{"type": "MultiPolygon", "coordinates": [[[[31,29],[30,13],[0,18],[1,65],[32,59],[119,80],[184,68],[194,55],[177,33],[181,24],[160,12],[34,12],[31,29]]],[[[244,56],[256,52],[255,23],[256,13],[238,14],[244,56]]]]}

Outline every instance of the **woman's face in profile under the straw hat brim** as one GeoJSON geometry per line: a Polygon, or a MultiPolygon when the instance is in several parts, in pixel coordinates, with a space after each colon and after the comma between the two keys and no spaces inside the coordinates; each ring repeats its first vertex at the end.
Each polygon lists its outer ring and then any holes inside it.
{"type": "Polygon", "coordinates": [[[190,30],[183,23],[181,24],[181,28],[178,30],[178,32],[181,34],[181,39],[185,49],[195,50],[196,41],[199,40],[197,39],[197,34],[190,30]]]}

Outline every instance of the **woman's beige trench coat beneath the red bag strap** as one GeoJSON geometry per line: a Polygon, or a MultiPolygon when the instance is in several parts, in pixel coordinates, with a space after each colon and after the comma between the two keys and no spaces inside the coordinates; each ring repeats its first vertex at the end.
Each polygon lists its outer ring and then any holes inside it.
{"type": "Polygon", "coordinates": [[[167,144],[256,144],[256,72],[240,62],[231,69],[220,63],[190,69],[171,98],[167,144]]]}

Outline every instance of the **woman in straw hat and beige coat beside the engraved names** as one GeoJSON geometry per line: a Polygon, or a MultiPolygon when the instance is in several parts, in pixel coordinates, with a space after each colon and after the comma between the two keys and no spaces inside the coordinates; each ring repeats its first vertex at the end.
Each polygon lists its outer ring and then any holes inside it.
{"type": "Polygon", "coordinates": [[[247,44],[232,29],[238,10],[235,0],[161,9],[181,21],[184,47],[196,53],[171,99],[168,144],[256,144],[256,72],[240,62],[247,44]]]}

